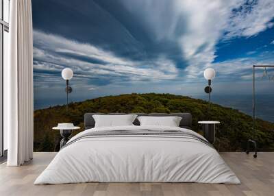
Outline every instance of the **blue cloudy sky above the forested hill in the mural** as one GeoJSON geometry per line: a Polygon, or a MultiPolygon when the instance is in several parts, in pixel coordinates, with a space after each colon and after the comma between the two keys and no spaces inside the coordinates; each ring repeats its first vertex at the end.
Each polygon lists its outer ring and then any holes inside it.
{"type": "MultiPolygon", "coordinates": [[[[274,64],[274,1],[33,0],[35,104],[124,93],[251,92],[252,64],[274,64]]],[[[268,71],[274,75],[274,69],[268,71]]],[[[256,73],[259,93],[273,89],[256,73]]]]}

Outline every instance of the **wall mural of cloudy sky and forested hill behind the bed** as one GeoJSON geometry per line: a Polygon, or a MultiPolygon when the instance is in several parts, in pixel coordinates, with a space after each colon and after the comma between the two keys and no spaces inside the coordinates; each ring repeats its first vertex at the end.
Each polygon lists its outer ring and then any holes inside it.
{"type": "Polygon", "coordinates": [[[221,121],[215,147],[240,151],[252,137],[274,149],[274,69],[256,71],[255,132],[249,116],[252,65],[274,64],[273,1],[33,0],[32,9],[34,150],[58,151],[51,127],[83,128],[85,112],[191,112],[199,132],[208,67],[210,117],[221,121]]]}

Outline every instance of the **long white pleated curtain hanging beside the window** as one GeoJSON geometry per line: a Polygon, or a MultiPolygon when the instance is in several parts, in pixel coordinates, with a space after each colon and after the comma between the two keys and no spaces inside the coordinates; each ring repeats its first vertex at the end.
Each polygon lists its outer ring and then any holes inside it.
{"type": "MultiPolygon", "coordinates": [[[[10,1],[10,52],[4,80],[8,166],[32,159],[34,134],[32,2],[10,1]]],[[[5,69],[5,68],[4,68],[5,69]]]]}

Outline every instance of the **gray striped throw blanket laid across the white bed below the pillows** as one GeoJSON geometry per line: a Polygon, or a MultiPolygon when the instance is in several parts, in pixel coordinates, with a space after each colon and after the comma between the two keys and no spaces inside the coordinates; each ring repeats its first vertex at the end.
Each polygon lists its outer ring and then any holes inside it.
{"type": "MultiPolygon", "coordinates": [[[[72,140],[69,140],[64,147],[67,147],[79,140],[82,140],[84,138],[99,138],[99,137],[105,137],[105,136],[121,136],[121,137],[130,137],[130,136],[176,136],[176,138],[189,138],[192,140],[198,140],[199,142],[208,145],[209,147],[213,147],[208,140],[205,140],[203,138],[200,138],[199,136],[196,136],[195,134],[190,134],[188,132],[184,131],[178,131],[178,130],[164,130],[164,131],[155,131],[155,130],[113,130],[113,131],[95,131],[95,132],[88,132],[86,134],[82,134],[79,137],[73,138],[72,140]]],[[[64,149],[62,147],[62,149],[64,149]]],[[[214,147],[213,147],[214,148],[214,147]]]]}

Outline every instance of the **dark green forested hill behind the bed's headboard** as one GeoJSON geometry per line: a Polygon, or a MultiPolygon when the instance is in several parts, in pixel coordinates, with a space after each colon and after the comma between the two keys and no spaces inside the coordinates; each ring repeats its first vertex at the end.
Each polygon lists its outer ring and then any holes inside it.
{"type": "Polygon", "coordinates": [[[84,130],[84,114],[86,112],[190,112],[192,114],[192,130],[201,133],[198,121],[221,121],[216,132],[214,147],[219,151],[242,151],[247,140],[253,138],[258,141],[262,150],[274,149],[274,123],[256,120],[256,129],[253,131],[252,118],[234,110],[212,103],[208,112],[208,102],[201,99],[192,99],[181,95],[171,94],[130,94],[99,97],[66,106],[54,106],[34,111],[34,151],[58,150],[60,132],[51,130],[58,123],[73,122],[82,127],[73,132],[73,135],[84,130]]]}

